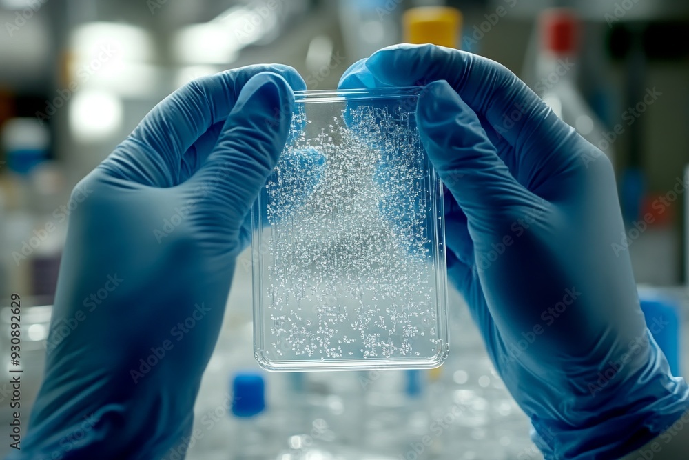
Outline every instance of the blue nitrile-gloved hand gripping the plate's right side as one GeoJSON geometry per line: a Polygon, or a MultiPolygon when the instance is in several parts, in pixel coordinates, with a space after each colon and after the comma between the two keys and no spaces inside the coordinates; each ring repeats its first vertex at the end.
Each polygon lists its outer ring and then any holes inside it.
{"type": "Polygon", "coordinates": [[[426,86],[448,270],[548,459],[613,459],[689,408],[644,323],[610,161],[500,64],[385,48],[340,87],[426,86]]]}

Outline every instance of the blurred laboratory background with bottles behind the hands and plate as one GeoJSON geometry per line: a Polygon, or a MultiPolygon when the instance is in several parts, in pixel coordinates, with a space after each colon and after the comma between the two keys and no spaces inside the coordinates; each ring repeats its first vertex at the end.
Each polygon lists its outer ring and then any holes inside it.
{"type": "MultiPolygon", "coordinates": [[[[251,63],[336,88],[351,63],[401,41],[499,61],[610,157],[627,224],[613,249],[631,254],[647,320],[672,319],[657,341],[686,375],[689,1],[0,0],[0,305],[23,299],[22,413],[43,372],[70,191],[158,101],[251,63]],[[461,14],[413,10],[431,6],[461,14]]],[[[248,252],[235,276],[187,458],[542,458],[454,290],[441,368],[267,374],[248,252]]]]}

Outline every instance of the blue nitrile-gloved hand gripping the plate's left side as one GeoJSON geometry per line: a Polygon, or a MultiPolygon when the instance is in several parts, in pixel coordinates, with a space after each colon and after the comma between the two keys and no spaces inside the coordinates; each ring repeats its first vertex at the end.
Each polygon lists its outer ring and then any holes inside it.
{"type": "Polygon", "coordinates": [[[293,89],[305,83],[279,65],[192,81],[74,188],[45,381],[11,458],[185,452],[293,89]]]}

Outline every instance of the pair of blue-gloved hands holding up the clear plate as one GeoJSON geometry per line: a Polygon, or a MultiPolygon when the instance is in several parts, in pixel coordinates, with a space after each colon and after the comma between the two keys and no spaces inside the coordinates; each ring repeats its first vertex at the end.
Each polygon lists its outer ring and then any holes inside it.
{"type": "MultiPolygon", "coordinates": [[[[628,254],[612,249],[624,227],[608,159],[473,54],[395,46],[340,81],[410,85],[426,87],[418,126],[450,192],[451,281],[539,448],[607,459],[656,437],[689,407],[688,388],[650,338],[628,254]]],[[[45,381],[12,458],[185,450],[249,209],[303,89],[278,65],[193,81],[77,186],[90,196],[70,216],[45,381]]]]}

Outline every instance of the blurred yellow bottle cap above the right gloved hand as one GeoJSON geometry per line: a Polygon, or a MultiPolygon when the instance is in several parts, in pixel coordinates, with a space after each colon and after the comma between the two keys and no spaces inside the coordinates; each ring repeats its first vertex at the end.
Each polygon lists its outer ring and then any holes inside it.
{"type": "Polygon", "coordinates": [[[432,43],[459,48],[462,12],[444,6],[409,8],[402,15],[402,29],[406,43],[432,43]]]}

